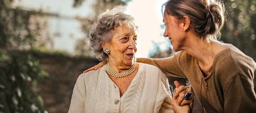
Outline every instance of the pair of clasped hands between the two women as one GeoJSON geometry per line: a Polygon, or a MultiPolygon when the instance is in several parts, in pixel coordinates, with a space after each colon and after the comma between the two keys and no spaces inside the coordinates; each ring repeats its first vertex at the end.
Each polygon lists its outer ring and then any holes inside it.
{"type": "Polygon", "coordinates": [[[176,89],[172,96],[172,107],[174,112],[192,112],[194,97],[189,100],[184,99],[186,92],[192,93],[188,86],[181,86],[178,81],[174,81],[176,89]]]}

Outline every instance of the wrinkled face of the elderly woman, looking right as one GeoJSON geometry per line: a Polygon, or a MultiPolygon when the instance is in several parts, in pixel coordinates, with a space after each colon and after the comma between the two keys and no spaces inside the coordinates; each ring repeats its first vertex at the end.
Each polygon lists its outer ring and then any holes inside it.
{"type": "Polygon", "coordinates": [[[122,25],[116,27],[112,33],[112,39],[106,46],[111,50],[109,62],[117,66],[132,66],[136,62],[136,32],[131,27],[122,25]]]}

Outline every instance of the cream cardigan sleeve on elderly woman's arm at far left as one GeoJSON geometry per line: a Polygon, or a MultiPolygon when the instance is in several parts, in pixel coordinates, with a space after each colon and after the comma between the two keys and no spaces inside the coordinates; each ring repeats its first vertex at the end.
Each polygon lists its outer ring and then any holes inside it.
{"type": "Polygon", "coordinates": [[[79,75],[78,80],[73,89],[71,97],[70,108],[68,113],[83,113],[84,112],[84,98],[86,95],[86,86],[84,83],[84,75],[79,75]]]}

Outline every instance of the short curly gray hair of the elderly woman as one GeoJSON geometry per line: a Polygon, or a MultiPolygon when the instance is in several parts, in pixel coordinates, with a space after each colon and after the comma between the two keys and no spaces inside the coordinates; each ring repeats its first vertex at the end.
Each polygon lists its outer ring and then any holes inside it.
{"type": "Polygon", "coordinates": [[[137,30],[134,24],[134,18],[131,15],[123,13],[122,7],[115,7],[112,10],[107,10],[98,16],[97,21],[94,22],[90,30],[90,47],[100,61],[108,61],[108,55],[103,52],[101,42],[109,42],[113,36],[112,30],[115,27],[130,26],[132,29],[137,30]]]}

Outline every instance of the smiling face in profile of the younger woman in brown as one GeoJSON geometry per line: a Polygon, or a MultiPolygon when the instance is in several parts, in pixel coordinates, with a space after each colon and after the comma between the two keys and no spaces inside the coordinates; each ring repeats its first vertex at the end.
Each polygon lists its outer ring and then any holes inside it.
{"type": "Polygon", "coordinates": [[[179,21],[175,16],[164,13],[164,24],[166,30],[164,36],[169,38],[170,44],[175,52],[181,50],[185,41],[185,31],[183,30],[183,22],[179,21]]]}

